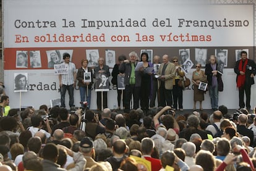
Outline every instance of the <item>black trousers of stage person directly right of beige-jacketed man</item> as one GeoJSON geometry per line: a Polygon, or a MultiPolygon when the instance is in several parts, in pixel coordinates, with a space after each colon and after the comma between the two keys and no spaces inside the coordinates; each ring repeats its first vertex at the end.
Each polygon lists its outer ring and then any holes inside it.
{"type": "Polygon", "coordinates": [[[179,109],[183,109],[182,106],[182,96],[183,96],[183,89],[181,86],[177,85],[177,81],[176,81],[176,85],[173,85],[173,108],[177,109],[177,104],[179,104],[179,109]]]}

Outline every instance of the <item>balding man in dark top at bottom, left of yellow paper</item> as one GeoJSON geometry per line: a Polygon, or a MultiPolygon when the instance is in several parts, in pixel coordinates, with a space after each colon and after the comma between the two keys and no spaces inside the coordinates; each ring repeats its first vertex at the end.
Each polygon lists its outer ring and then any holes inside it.
{"type": "Polygon", "coordinates": [[[126,143],[122,140],[117,140],[113,144],[113,156],[106,159],[115,171],[120,167],[121,162],[126,159],[126,143]]]}

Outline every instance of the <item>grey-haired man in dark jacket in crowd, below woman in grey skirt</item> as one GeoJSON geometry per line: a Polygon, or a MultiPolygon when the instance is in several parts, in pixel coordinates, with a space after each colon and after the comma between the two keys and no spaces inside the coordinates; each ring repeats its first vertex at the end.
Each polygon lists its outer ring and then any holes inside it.
{"type": "Polygon", "coordinates": [[[200,123],[200,120],[198,119],[197,116],[195,116],[195,115],[190,115],[190,116],[187,118],[187,125],[188,125],[188,128],[182,130],[182,131],[179,133],[179,138],[185,138],[187,141],[189,141],[189,140],[190,140],[190,136],[191,136],[193,133],[198,133],[198,135],[200,135],[200,136],[202,137],[202,140],[208,139],[207,131],[205,131],[205,130],[199,130],[199,129],[198,129],[199,123],[200,123]]]}

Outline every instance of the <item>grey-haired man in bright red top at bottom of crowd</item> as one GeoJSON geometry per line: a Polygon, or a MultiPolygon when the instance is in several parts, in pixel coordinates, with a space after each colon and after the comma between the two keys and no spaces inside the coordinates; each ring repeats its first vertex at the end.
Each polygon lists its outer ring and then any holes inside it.
{"type": "Polygon", "coordinates": [[[160,159],[154,159],[151,157],[151,154],[153,152],[153,148],[155,147],[154,141],[150,138],[143,138],[142,139],[142,157],[146,159],[147,161],[151,162],[151,170],[152,171],[158,171],[161,169],[161,161],[160,159]]]}

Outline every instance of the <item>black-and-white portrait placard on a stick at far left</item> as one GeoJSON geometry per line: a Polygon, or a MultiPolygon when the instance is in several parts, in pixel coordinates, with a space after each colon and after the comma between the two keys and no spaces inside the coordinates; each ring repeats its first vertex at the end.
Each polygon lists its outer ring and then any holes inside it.
{"type": "Polygon", "coordinates": [[[14,73],[14,92],[28,91],[28,73],[14,73]]]}

